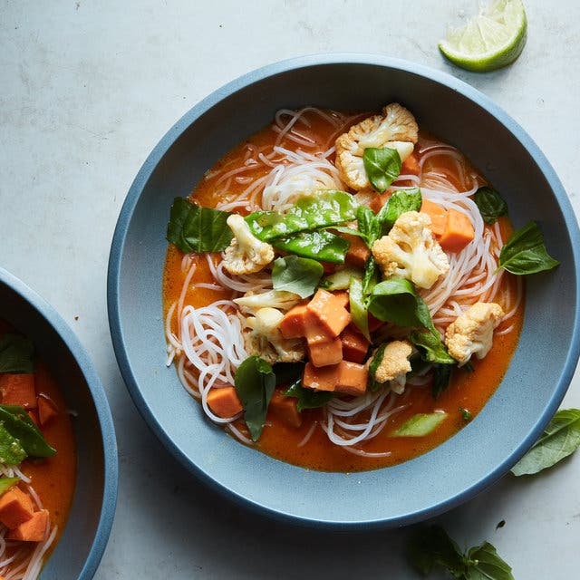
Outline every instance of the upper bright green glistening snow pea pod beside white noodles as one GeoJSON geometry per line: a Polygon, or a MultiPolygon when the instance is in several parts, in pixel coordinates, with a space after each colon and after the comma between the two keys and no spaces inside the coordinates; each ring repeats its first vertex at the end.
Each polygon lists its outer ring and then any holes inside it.
{"type": "Polygon", "coordinates": [[[284,214],[256,211],[247,216],[247,225],[258,239],[270,242],[296,232],[330,227],[353,221],[358,203],[350,193],[329,189],[315,197],[298,199],[284,214]]]}

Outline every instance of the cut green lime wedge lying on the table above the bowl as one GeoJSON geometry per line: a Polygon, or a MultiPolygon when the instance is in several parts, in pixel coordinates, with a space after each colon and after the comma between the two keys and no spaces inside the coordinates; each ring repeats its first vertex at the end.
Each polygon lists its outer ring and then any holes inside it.
{"type": "Polygon", "coordinates": [[[451,63],[476,73],[513,63],[526,44],[527,19],[521,0],[494,0],[463,28],[449,30],[439,48],[451,63]]]}

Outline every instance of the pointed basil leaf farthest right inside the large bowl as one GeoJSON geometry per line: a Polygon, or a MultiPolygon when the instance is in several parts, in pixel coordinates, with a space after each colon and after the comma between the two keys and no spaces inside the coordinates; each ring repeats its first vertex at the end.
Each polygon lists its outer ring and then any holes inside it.
{"type": "Polygon", "coordinates": [[[551,270],[559,262],[549,256],[544,238],[535,221],[514,232],[499,253],[499,268],[516,275],[551,270]]]}

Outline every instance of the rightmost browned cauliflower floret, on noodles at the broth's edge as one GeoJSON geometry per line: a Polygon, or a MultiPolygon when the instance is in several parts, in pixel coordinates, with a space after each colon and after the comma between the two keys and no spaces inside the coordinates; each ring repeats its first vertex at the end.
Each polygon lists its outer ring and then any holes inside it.
{"type": "Polygon", "coordinates": [[[493,331],[504,314],[503,308],[495,302],[477,302],[449,324],[445,344],[459,366],[468,362],[472,354],[478,359],[488,354],[493,331]]]}

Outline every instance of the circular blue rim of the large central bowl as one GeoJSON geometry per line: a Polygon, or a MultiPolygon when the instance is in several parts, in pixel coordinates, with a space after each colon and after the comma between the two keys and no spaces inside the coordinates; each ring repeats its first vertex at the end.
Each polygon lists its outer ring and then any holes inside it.
{"type": "Polygon", "coordinates": [[[418,63],[411,63],[399,58],[383,56],[372,53],[315,53],[295,58],[286,59],[276,63],[267,64],[256,70],[245,73],[237,79],[221,86],[214,92],[211,92],[205,99],[196,103],[177,121],[167,133],[160,139],[159,143],[150,152],[147,160],[142,164],[137,176],[131,184],[131,188],[122,205],[121,212],[117,221],[117,226],[112,237],[111,253],[109,257],[109,271],[107,277],[107,306],[109,313],[109,324],[111,329],[111,340],[117,362],[121,369],[121,374],[131,394],[131,399],[135,403],[141,416],[148,424],[150,429],[155,433],[161,443],[169,449],[170,453],[179,459],[191,473],[207,481],[212,488],[217,489],[228,498],[233,498],[237,503],[250,507],[261,514],[269,517],[284,519],[294,524],[302,526],[343,528],[343,529],[372,529],[381,527],[403,526],[417,521],[434,517],[448,511],[452,507],[459,506],[470,498],[474,498],[479,492],[488,488],[491,484],[501,478],[508,469],[510,469],[518,459],[520,459],[546,428],[547,423],[553,417],[560,402],[563,400],[575,372],[575,365],[580,354],[580,229],[575,218],[575,212],[572,208],[565,189],[556,175],[544,153],[536,145],[536,142],[527,134],[526,131],[507,114],[496,102],[493,102],[487,95],[479,92],[477,89],[463,82],[449,73],[444,73],[437,69],[430,68],[418,63]],[[121,304],[119,293],[119,282],[121,275],[121,258],[128,227],[131,222],[133,211],[139,203],[140,193],[148,183],[151,174],[156,169],[158,163],[167,153],[173,143],[179,139],[182,133],[188,130],[189,126],[196,121],[201,115],[211,109],[218,102],[226,99],[235,92],[238,92],[248,85],[263,81],[267,77],[276,74],[286,73],[292,70],[311,67],[323,66],[329,64],[362,64],[380,66],[385,69],[395,69],[405,73],[416,74],[425,77],[430,81],[438,82],[443,86],[458,92],[466,97],[470,102],[474,102],[481,108],[488,111],[495,117],[507,131],[510,131],[515,138],[521,143],[525,150],[536,162],[537,167],[544,174],[547,183],[554,192],[559,208],[562,211],[565,226],[571,240],[572,258],[575,266],[575,315],[574,329],[572,340],[566,354],[565,364],[560,373],[558,382],[555,386],[552,397],[550,398],[542,416],[536,421],[536,424],[530,430],[527,438],[520,442],[516,449],[508,455],[507,459],[502,461],[495,469],[488,472],[488,475],[475,481],[469,488],[457,493],[455,496],[448,498],[438,504],[425,507],[421,510],[414,511],[404,516],[396,517],[378,517],[376,519],[367,519],[362,521],[342,521],[342,520],[320,520],[316,518],[301,517],[289,513],[284,509],[262,506],[256,501],[246,498],[237,493],[237,491],[227,488],[221,482],[214,479],[208,472],[200,469],[189,457],[179,449],[178,445],[169,437],[168,433],[162,428],[154,412],[145,401],[140,392],[139,384],[132,372],[131,361],[121,332],[121,304]]]}

